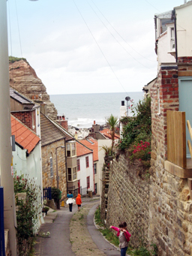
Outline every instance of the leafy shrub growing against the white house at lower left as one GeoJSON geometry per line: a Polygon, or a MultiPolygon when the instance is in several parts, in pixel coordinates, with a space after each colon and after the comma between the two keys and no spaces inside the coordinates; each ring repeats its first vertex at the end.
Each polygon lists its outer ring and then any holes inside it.
{"type": "Polygon", "coordinates": [[[37,218],[41,212],[38,204],[38,188],[34,180],[14,175],[14,192],[17,210],[17,251],[19,255],[28,255],[34,244],[34,231],[37,218]],[[26,201],[18,197],[18,193],[26,192],[26,201]]]}

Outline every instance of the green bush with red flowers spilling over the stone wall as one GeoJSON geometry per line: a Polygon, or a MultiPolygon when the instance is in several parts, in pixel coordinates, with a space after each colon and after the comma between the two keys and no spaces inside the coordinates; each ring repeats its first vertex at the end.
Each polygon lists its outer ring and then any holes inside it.
{"type": "Polygon", "coordinates": [[[148,165],[151,158],[151,98],[139,101],[132,113],[133,116],[121,119],[124,128],[118,149],[127,150],[130,160],[139,159],[148,165]]]}

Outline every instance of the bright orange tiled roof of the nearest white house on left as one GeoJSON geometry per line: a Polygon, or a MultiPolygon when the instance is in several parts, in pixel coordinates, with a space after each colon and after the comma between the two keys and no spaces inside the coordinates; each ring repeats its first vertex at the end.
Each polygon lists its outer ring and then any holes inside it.
{"type": "Polygon", "coordinates": [[[23,149],[27,149],[29,154],[40,141],[40,138],[34,131],[31,131],[31,129],[12,115],[10,115],[10,122],[11,134],[15,135],[16,143],[23,147],[23,149]]]}

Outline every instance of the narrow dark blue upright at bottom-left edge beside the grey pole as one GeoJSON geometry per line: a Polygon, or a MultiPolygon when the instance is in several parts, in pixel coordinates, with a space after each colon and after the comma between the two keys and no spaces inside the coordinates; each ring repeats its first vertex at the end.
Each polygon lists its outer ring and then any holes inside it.
{"type": "Polygon", "coordinates": [[[1,256],[5,256],[5,228],[4,228],[4,199],[3,187],[0,187],[0,251],[1,256]]]}

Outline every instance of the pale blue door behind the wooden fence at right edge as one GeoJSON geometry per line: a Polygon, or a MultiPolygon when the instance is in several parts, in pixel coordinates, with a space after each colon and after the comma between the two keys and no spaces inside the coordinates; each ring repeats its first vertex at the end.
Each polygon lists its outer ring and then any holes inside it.
{"type": "MultiPolygon", "coordinates": [[[[178,78],[178,100],[179,100],[179,111],[185,112],[186,140],[190,140],[190,135],[187,128],[187,120],[190,121],[190,125],[192,126],[192,77],[178,78]]],[[[186,141],[186,146],[187,146],[187,141],[186,141]]],[[[190,158],[190,152],[189,152],[188,146],[187,146],[187,158],[190,158]]]]}

